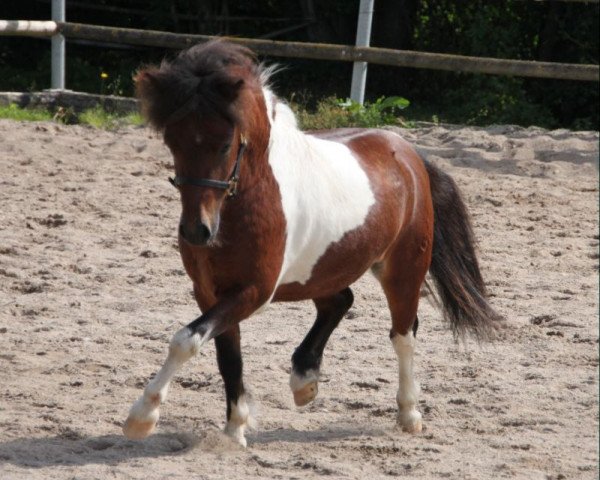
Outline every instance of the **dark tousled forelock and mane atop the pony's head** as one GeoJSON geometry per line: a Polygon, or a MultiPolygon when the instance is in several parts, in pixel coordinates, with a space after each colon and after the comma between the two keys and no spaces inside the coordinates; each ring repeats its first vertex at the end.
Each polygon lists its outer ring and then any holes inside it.
{"type": "Polygon", "coordinates": [[[260,67],[251,50],[213,40],[163,61],[160,68],[140,71],[136,95],[144,115],[158,130],[191,112],[220,115],[236,123],[233,103],[241,87],[248,79],[259,78],[260,67]]]}

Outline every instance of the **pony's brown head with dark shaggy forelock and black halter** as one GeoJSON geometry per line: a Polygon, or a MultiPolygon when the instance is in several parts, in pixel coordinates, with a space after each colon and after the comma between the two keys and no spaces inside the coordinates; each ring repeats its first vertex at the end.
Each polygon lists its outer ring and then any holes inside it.
{"type": "Polygon", "coordinates": [[[267,148],[261,67],[245,47],[212,41],[141,70],[135,82],[145,117],[173,155],[180,238],[216,245],[228,199],[251,183],[247,157],[267,148]]]}

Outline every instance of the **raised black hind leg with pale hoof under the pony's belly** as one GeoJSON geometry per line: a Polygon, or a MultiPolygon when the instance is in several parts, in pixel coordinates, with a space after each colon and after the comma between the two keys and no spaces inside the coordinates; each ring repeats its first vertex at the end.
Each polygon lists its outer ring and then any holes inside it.
{"type": "Polygon", "coordinates": [[[319,369],[325,345],[344,314],[352,306],[352,290],[346,288],[331,297],[313,299],[317,318],[302,343],[292,355],[290,388],[296,405],[313,401],[318,392],[319,369]]]}

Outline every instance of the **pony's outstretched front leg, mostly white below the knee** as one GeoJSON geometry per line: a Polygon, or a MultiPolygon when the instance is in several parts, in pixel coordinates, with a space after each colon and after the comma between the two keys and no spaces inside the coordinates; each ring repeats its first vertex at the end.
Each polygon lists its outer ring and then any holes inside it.
{"type": "Polygon", "coordinates": [[[140,440],[153,432],[159,417],[158,407],[165,401],[169,384],[181,366],[208,340],[237,327],[266,301],[264,298],[254,289],[227,296],[173,336],[165,363],[129,411],[123,425],[127,438],[140,440]]]}

